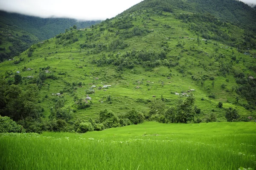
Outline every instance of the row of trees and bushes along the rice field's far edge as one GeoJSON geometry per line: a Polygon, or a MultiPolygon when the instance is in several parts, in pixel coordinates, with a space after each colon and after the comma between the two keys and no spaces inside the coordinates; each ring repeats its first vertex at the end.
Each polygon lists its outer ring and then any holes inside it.
{"type": "MultiPolygon", "coordinates": [[[[112,127],[140,124],[143,121],[158,121],[160,123],[208,123],[217,121],[216,114],[213,112],[205,115],[202,119],[195,119],[201,109],[195,107],[195,97],[193,95],[188,95],[184,100],[180,99],[173,107],[166,107],[168,99],[163,98],[163,96],[160,99],[148,101],[138,99],[137,102],[148,104],[149,112],[140,112],[132,108],[128,112],[116,115],[105,109],[99,112],[99,117],[95,120],[89,118],[88,120],[77,119],[75,121],[72,119],[75,110],[70,107],[65,108],[64,98],[56,97],[55,106],[51,108],[49,118],[45,118],[42,115],[44,109],[38,106],[38,89],[35,84],[31,85],[31,88],[27,88],[26,91],[17,85],[7,87],[3,84],[3,81],[1,85],[3,87],[0,89],[2,96],[0,98],[0,123],[2,122],[0,133],[42,133],[43,131],[85,133],[93,130],[100,131],[112,127]]],[[[218,107],[222,108],[221,102],[218,107]]],[[[227,121],[248,121],[246,118],[240,118],[236,109],[228,108],[224,110],[226,111],[227,121]]]]}

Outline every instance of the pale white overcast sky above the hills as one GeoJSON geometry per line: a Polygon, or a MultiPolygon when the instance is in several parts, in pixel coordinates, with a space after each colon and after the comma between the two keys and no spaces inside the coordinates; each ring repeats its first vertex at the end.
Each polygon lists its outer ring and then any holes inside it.
{"type": "MultiPolygon", "coordinates": [[[[78,20],[105,20],[142,0],[0,0],[0,10],[37,17],[70,17],[78,20]]],[[[254,3],[256,0],[241,0],[254,3]]]]}

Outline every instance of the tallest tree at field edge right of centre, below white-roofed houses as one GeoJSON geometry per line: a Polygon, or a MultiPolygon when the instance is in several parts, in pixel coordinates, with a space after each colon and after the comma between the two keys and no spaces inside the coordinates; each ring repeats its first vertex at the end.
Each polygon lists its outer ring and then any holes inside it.
{"type": "Polygon", "coordinates": [[[195,98],[193,95],[189,95],[184,101],[177,105],[176,120],[180,123],[187,123],[187,121],[194,120],[195,109],[195,98]]]}

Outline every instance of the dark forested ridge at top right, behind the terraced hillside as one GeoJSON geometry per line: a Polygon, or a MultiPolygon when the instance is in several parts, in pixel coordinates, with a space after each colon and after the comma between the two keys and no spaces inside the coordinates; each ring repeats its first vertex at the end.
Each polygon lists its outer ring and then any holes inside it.
{"type": "MultiPolygon", "coordinates": [[[[222,21],[256,28],[256,10],[239,0],[144,0],[123,13],[136,10],[183,10],[194,13],[209,13],[222,21]]],[[[182,12],[182,11],[180,11],[182,12]]],[[[254,30],[255,31],[255,30],[254,30]]]]}

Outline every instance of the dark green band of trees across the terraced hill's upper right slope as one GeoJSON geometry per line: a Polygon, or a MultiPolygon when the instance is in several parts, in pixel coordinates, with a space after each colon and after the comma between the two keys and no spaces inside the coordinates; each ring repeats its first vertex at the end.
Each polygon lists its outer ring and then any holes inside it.
{"type": "Polygon", "coordinates": [[[207,40],[216,40],[230,46],[237,47],[240,52],[243,50],[256,48],[256,37],[249,29],[244,29],[244,33],[232,31],[235,26],[230,23],[218,20],[213,15],[207,14],[177,14],[177,19],[190,23],[189,29],[201,34],[207,40]]]}

